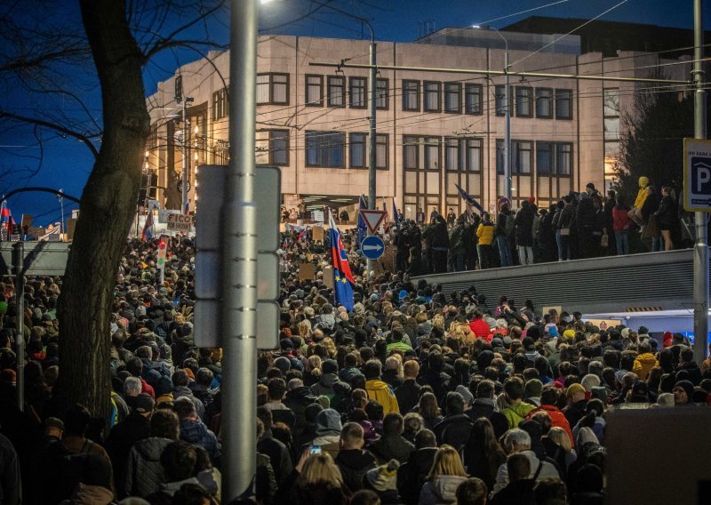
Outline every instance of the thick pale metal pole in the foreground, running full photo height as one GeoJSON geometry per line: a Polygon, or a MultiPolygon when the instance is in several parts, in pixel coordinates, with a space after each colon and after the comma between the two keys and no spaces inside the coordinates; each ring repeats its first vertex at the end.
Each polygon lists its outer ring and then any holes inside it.
{"type": "Polygon", "coordinates": [[[254,203],[257,0],[233,0],[229,169],[222,208],[222,502],[253,493],[257,425],[257,207],[254,203]]]}

